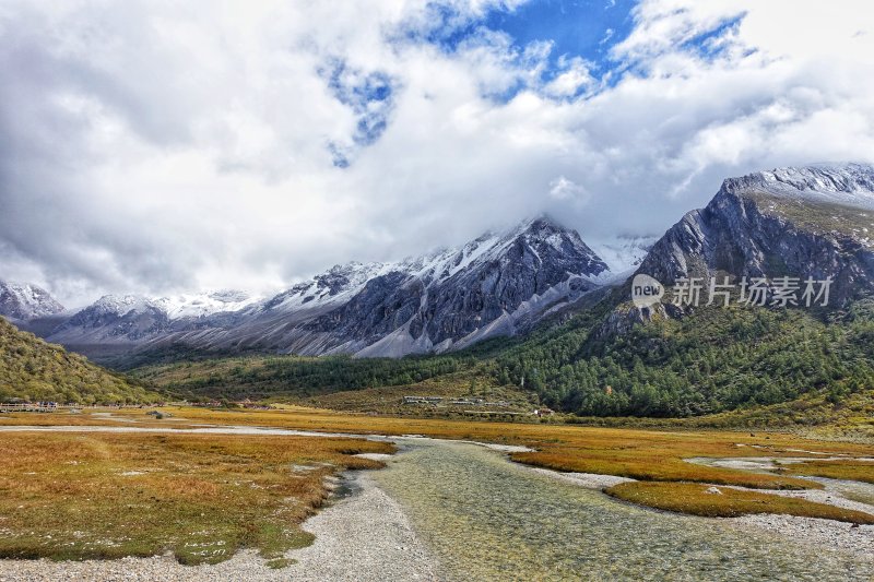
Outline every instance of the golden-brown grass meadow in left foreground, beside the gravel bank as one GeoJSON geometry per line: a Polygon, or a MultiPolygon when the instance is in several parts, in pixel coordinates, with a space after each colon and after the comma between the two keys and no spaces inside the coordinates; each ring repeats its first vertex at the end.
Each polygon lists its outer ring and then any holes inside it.
{"type": "MultiPolygon", "coordinates": [[[[10,432],[0,439],[0,557],[88,559],[172,551],[281,559],[326,499],[323,478],[381,463],[362,439],[10,432]]],[[[276,562],[279,563],[279,562],[276,562]]]]}

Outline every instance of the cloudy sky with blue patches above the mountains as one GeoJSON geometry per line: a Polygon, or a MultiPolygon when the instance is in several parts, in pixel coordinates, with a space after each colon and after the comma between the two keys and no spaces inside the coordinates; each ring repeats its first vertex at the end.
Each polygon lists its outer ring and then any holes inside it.
{"type": "Polygon", "coordinates": [[[869,1],[0,3],[0,278],[267,290],[874,162],[869,1]],[[177,5],[178,4],[178,5],[177,5]]]}

